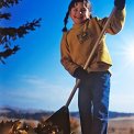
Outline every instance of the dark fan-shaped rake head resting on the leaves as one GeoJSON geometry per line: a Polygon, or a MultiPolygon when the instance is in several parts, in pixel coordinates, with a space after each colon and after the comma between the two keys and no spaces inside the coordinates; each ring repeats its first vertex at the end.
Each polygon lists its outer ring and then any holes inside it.
{"type": "Polygon", "coordinates": [[[43,124],[35,129],[37,134],[70,134],[69,110],[62,107],[43,124]]]}

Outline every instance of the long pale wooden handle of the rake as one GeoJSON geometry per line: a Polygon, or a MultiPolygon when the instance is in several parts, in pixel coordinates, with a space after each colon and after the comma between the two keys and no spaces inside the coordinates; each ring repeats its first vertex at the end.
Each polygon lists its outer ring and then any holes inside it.
{"type": "MultiPolygon", "coordinates": [[[[108,18],[108,20],[107,20],[104,26],[103,26],[103,30],[101,31],[101,33],[100,33],[100,35],[99,35],[99,37],[98,37],[98,40],[97,40],[97,42],[96,42],[96,44],[94,44],[94,46],[93,46],[93,48],[92,48],[92,51],[91,51],[91,53],[90,53],[90,55],[89,55],[87,62],[86,62],[86,64],[85,64],[85,67],[83,67],[85,70],[87,70],[87,68],[88,68],[88,66],[89,66],[89,64],[90,64],[90,62],[91,62],[91,58],[92,58],[92,56],[93,56],[93,54],[94,54],[97,47],[99,46],[99,43],[100,43],[102,36],[104,35],[105,30],[107,30],[107,27],[108,27],[108,25],[109,25],[109,23],[110,23],[112,16],[113,16],[115,10],[116,10],[116,8],[114,7],[113,10],[112,10],[112,12],[111,12],[111,14],[110,14],[110,16],[108,18]]],[[[74,96],[75,96],[75,93],[76,93],[76,91],[77,91],[77,88],[78,88],[79,83],[80,83],[80,79],[77,79],[76,85],[74,86],[74,89],[72,89],[72,91],[71,91],[71,93],[70,93],[70,96],[69,96],[69,98],[68,98],[68,100],[67,100],[67,102],[66,102],[66,107],[69,107],[70,101],[72,100],[72,98],[74,98],[74,96]]]]}

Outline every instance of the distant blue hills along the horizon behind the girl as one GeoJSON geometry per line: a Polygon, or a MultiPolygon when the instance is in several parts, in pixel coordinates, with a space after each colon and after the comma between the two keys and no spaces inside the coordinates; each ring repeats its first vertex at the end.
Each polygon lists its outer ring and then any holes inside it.
{"type": "MultiPolygon", "coordinates": [[[[21,110],[13,108],[0,108],[0,116],[5,116],[9,119],[33,119],[41,120],[42,116],[49,116],[53,111],[37,111],[37,110],[21,110]]],[[[74,118],[79,118],[78,112],[70,112],[70,115],[74,118]]],[[[134,113],[122,113],[122,112],[111,112],[109,114],[110,119],[113,118],[124,118],[124,116],[134,116],[134,113]]]]}

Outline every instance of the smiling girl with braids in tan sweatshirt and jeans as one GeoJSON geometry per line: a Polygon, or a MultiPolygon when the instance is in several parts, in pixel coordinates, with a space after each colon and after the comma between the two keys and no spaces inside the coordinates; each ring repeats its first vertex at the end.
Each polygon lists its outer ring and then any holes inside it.
{"type": "MultiPolygon", "coordinates": [[[[125,0],[115,0],[115,13],[105,33],[121,31],[125,18],[125,0]]],[[[65,16],[60,44],[62,64],[75,78],[80,79],[78,107],[82,134],[107,134],[110,93],[110,67],[112,66],[105,36],[103,35],[88,69],[82,69],[108,18],[91,15],[88,0],[71,0],[65,16]],[[74,25],[67,31],[68,18],[74,25]]]]}

